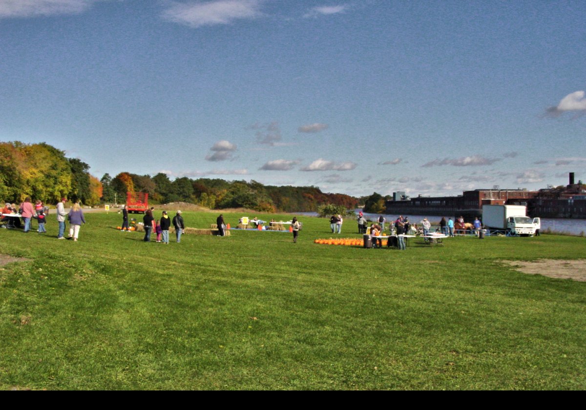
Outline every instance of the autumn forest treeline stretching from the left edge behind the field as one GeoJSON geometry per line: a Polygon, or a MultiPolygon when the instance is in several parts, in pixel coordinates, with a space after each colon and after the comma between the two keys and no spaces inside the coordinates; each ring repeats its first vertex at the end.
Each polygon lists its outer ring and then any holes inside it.
{"type": "Polygon", "coordinates": [[[315,186],[270,186],[251,180],[188,177],[170,180],[121,172],[101,179],[90,166],[46,143],[0,142],[0,201],[19,202],[26,196],[44,203],[62,197],[82,204],[124,203],[127,192],[147,192],[154,203],[190,202],[210,209],[245,207],[258,211],[312,212],[322,204],[355,209],[359,199],[346,194],[323,193],[315,186]]]}

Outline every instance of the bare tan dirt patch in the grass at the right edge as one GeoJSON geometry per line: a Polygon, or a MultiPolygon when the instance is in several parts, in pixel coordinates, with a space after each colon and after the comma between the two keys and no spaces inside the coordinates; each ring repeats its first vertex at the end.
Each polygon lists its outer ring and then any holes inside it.
{"type": "Polygon", "coordinates": [[[549,278],[574,279],[586,282],[586,259],[561,260],[537,259],[537,261],[501,261],[503,264],[516,268],[517,271],[529,275],[543,275],[549,278]]]}

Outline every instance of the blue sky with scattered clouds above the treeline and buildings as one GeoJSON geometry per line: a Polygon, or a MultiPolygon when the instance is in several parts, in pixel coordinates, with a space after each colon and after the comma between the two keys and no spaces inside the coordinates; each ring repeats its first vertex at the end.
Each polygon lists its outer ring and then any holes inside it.
{"type": "Polygon", "coordinates": [[[0,141],[353,195],[586,179],[583,1],[0,0],[0,141]]]}

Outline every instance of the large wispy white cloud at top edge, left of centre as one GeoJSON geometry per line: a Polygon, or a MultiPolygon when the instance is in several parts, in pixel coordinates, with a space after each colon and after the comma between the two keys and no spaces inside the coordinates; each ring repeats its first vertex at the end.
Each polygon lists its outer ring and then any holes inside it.
{"type": "Polygon", "coordinates": [[[171,6],[163,12],[163,17],[193,28],[229,24],[234,20],[253,19],[262,15],[261,3],[260,0],[171,2],[171,6]]]}

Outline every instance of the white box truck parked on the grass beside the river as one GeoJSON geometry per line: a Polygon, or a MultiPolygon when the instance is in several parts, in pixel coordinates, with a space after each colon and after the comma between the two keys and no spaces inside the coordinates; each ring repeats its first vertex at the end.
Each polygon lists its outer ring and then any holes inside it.
{"type": "Polygon", "coordinates": [[[541,229],[540,218],[527,217],[524,205],[483,205],[482,224],[485,227],[506,230],[511,235],[535,235],[541,229]]]}

